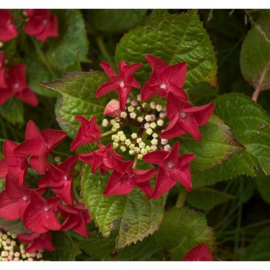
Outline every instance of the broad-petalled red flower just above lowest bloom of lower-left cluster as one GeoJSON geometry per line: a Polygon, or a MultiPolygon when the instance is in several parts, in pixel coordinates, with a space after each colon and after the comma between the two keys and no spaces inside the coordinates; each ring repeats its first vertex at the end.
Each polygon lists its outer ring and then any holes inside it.
{"type": "Polygon", "coordinates": [[[36,233],[60,230],[61,224],[55,214],[60,203],[60,198],[45,200],[33,191],[30,196],[30,203],[23,214],[23,224],[26,229],[36,233]]]}

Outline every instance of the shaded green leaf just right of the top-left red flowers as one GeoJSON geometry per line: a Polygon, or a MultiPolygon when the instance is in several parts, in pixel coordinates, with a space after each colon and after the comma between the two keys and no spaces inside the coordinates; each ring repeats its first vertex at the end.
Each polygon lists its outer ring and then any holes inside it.
{"type": "Polygon", "coordinates": [[[74,62],[88,61],[88,39],[79,10],[57,10],[59,37],[46,43],[46,57],[53,69],[65,71],[74,62]]]}

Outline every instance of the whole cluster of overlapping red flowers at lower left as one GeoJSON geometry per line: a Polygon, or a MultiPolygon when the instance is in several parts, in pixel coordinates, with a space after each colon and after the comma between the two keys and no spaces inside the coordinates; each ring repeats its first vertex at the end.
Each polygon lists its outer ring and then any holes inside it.
{"type": "Polygon", "coordinates": [[[27,252],[41,248],[54,250],[50,230],[74,230],[87,236],[88,210],[74,203],[72,172],[78,157],[72,156],[58,165],[48,162],[53,149],[66,137],[60,130],[39,131],[34,122],[26,127],[25,141],[20,145],[4,143],[4,159],[0,160],[0,178],[5,178],[5,190],[0,193],[0,217],[22,219],[32,234],[19,235],[29,246],[27,252]],[[28,168],[41,174],[37,188],[27,185],[28,168]],[[52,191],[50,191],[52,190],[52,191]],[[46,192],[46,197],[43,194],[46,192]],[[64,202],[65,204],[62,204],[64,202]],[[57,211],[64,219],[61,224],[57,211]]]}

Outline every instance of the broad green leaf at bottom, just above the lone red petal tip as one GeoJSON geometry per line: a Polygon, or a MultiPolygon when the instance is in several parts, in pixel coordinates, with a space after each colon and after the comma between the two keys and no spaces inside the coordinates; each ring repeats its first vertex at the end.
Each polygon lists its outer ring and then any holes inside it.
{"type": "Polygon", "coordinates": [[[154,238],[175,261],[182,261],[190,249],[201,243],[212,252],[214,250],[214,234],[207,226],[205,216],[186,207],[171,208],[154,238]]]}

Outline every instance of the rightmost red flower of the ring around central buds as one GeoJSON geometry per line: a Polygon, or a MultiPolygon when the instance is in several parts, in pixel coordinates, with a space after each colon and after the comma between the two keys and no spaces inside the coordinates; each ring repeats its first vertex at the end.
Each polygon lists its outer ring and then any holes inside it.
{"type": "Polygon", "coordinates": [[[199,126],[207,123],[214,109],[214,103],[194,107],[191,103],[170,93],[167,98],[167,115],[171,123],[160,136],[164,139],[170,139],[187,132],[200,141],[199,126]]]}

